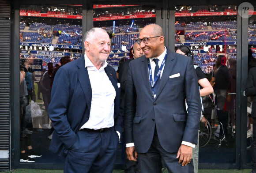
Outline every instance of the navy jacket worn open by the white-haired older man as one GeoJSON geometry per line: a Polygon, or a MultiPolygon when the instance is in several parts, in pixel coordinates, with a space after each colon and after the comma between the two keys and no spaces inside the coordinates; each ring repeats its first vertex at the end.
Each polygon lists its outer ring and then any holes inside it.
{"type": "MultiPolygon", "coordinates": [[[[105,72],[116,90],[114,100],[114,128],[122,133],[122,117],[119,116],[120,90],[116,71],[107,65],[105,72]]],[[[84,58],[61,67],[54,78],[49,117],[53,122],[53,138],[50,150],[64,156],[77,141],[76,132],[90,116],[92,90],[84,58]]]]}

